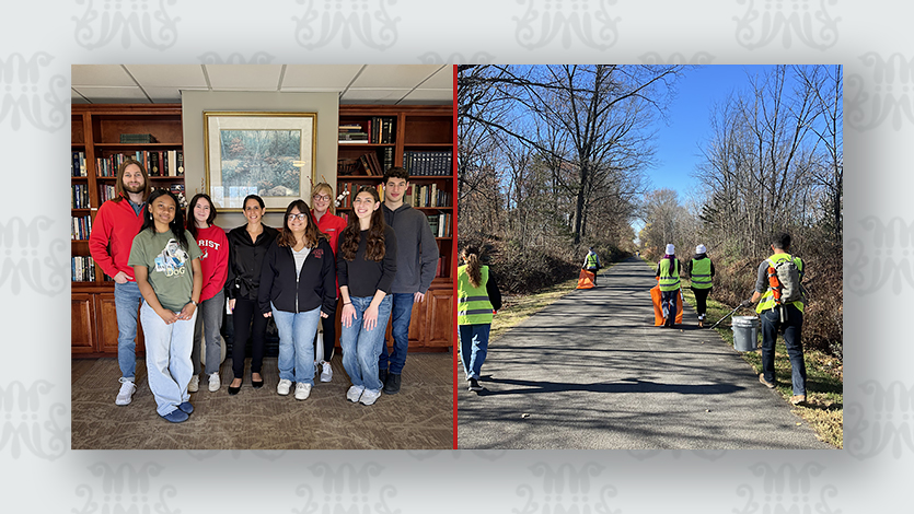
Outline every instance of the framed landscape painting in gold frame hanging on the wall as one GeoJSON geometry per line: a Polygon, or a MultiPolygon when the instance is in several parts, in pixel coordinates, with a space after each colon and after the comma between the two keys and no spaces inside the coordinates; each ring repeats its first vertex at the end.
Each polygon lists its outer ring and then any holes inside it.
{"type": "Polygon", "coordinates": [[[204,112],[206,187],[220,210],[240,211],[247,195],[284,210],[309,198],[316,113],[204,112]]]}

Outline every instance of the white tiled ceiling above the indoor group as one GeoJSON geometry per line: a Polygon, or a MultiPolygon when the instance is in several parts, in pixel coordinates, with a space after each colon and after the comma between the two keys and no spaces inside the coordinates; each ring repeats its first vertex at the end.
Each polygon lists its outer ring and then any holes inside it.
{"type": "Polygon", "coordinates": [[[338,92],[340,104],[453,103],[441,65],[74,65],[72,103],[178,103],[181,92],[338,92]]]}

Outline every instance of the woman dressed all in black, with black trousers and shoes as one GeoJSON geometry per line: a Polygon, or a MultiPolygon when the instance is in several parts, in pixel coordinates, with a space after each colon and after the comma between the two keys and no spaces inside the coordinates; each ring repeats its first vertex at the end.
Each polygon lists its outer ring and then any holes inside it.
{"type": "Polygon", "coordinates": [[[261,284],[261,265],[267,248],[276,241],[279,232],[262,223],[264,200],[257,195],[244,199],[246,225],[229,232],[229,277],[225,280],[225,295],[232,311],[234,340],[232,343],[232,373],[229,394],[236,395],[244,376],[244,347],[247,337],[253,336],[251,355],[251,385],[263,387],[261,366],[264,363],[264,341],[267,319],[261,315],[257,305],[257,289],[261,284]],[[252,323],[253,322],[253,323],[252,323]],[[252,326],[253,325],[253,326],[252,326]]]}

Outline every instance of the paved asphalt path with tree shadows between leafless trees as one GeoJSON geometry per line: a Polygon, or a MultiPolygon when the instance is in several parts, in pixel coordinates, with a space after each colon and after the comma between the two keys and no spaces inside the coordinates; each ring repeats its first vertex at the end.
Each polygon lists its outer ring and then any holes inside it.
{"type": "Polygon", "coordinates": [[[632,258],[494,341],[485,390],[459,382],[458,446],[832,447],[689,305],[676,329],[655,327],[655,283],[632,258]]]}

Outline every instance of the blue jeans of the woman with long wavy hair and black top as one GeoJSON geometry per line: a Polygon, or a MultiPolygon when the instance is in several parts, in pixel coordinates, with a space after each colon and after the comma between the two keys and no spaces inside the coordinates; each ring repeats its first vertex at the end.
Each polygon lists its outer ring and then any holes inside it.
{"type": "Polygon", "coordinates": [[[365,311],[371,304],[372,296],[350,296],[349,301],[356,307],[356,318],[350,326],[343,325],[339,334],[339,346],[343,347],[343,367],[352,381],[354,386],[365,387],[367,390],[380,392],[383,384],[378,377],[378,354],[384,346],[384,332],[387,331],[387,319],[391,317],[391,295],[384,296],[378,306],[378,323],[371,330],[362,326],[365,311]]]}

